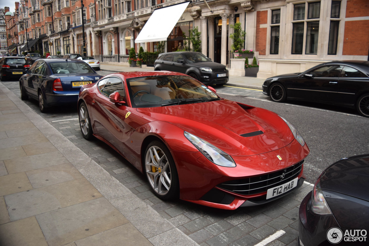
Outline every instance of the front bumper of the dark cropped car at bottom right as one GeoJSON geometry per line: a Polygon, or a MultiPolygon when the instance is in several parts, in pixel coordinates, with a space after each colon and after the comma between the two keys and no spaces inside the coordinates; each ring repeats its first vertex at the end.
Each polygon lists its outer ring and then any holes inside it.
{"type": "MultiPolygon", "coordinates": [[[[311,212],[311,192],[309,192],[299,209],[299,245],[332,245],[327,240],[327,231],[332,227],[340,228],[334,215],[316,215],[311,212]]],[[[344,243],[342,241],[338,245],[344,243]]]]}

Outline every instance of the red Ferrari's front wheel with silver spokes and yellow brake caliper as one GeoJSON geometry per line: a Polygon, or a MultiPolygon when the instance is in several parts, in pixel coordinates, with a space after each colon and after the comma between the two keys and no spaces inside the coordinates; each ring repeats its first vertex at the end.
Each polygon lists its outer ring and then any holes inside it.
{"type": "Polygon", "coordinates": [[[176,164],[170,151],[162,142],[152,141],[146,147],[144,170],[147,180],[157,197],[162,200],[179,198],[179,180],[176,164]],[[152,156],[154,156],[156,163],[153,162],[152,156]],[[156,156],[158,156],[159,162],[157,162],[156,156]]]}

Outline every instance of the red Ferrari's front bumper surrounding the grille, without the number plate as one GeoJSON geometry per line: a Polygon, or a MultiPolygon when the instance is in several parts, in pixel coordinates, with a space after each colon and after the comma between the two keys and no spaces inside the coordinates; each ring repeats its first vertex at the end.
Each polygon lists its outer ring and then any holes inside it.
{"type": "MultiPolygon", "coordinates": [[[[232,156],[236,167],[221,167],[210,162],[200,152],[172,151],[177,164],[180,181],[180,199],[209,207],[236,209],[238,207],[260,205],[273,201],[266,200],[266,191],[258,194],[243,195],[217,187],[218,184],[258,177],[286,169],[301,162],[308,155],[306,145],[301,146],[296,139],[284,148],[253,156],[232,156]],[[285,156],[280,161],[277,155],[285,156]]],[[[303,183],[303,168],[298,174],[298,187],[303,183]]],[[[297,188],[298,188],[297,187],[297,188]]],[[[295,190],[292,189],[291,191],[295,190]]],[[[283,193],[289,194],[291,191],[283,193]]],[[[277,198],[281,197],[277,196],[277,198]]]]}

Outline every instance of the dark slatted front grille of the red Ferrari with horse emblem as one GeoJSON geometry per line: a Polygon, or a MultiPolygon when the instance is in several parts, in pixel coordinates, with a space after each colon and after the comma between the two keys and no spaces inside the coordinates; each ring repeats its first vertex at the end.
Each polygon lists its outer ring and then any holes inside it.
{"type": "Polygon", "coordinates": [[[262,193],[267,191],[269,188],[279,186],[295,179],[299,176],[303,163],[304,160],[283,170],[246,179],[227,181],[222,184],[218,184],[217,187],[241,195],[262,193]]]}

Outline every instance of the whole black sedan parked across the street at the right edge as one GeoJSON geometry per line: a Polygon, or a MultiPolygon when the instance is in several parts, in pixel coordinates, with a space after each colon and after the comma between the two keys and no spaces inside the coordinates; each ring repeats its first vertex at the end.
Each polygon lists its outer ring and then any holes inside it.
{"type": "Polygon", "coordinates": [[[334,61],[303,73],[268,78],[263,93],[272,101],[296,99],[341,105],[369,117],[369,62],[334,61]]]}

